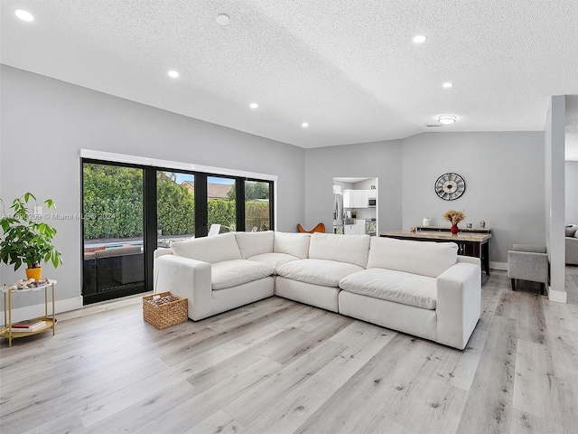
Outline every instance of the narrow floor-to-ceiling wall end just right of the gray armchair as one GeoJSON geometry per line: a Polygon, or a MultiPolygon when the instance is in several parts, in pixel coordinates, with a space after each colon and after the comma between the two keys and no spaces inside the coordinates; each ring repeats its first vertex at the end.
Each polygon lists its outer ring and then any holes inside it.
{"type": "Polygon", "coordinates": [[[551,300],[566,302],[564,252],[564,135],[565,100],[552,97],[544,133],[545,161],[545,238],[550,259],[551,300]]]}

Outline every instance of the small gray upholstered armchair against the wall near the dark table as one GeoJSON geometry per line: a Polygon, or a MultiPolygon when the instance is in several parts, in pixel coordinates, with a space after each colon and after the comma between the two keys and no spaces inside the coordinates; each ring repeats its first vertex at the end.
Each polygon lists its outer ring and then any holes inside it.
{"type": "Polygon", "coordinates": [[[548,255],[544,246],[514,244],[508,250],[508,278],[512,279],[512,290],[516,290],[516,279],[540,282],[542,294],[548,284],[548,255]]]}

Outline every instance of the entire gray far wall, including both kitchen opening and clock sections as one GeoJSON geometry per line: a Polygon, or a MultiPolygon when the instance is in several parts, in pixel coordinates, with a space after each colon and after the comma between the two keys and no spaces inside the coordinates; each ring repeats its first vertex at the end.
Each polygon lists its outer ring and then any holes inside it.
{"type": "Polygon", "coordinates": [[[379,231],[408,231],[430,217],[465,209],[492,228],[490,259],[504,265],[514,243],[545,244],[544,133],[424,133],[403,140],[307,150],[306,226],[331,227],[333,176],[378,177],[379,231]],[[460,199],[433,191],[439,175],[466,181],[460,199]]]}

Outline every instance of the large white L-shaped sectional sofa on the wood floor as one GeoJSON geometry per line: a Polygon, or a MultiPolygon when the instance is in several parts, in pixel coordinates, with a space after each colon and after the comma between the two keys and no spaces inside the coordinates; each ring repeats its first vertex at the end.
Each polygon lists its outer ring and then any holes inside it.
{"type": "Polygon", "coordinates": [[[480,259],[451,242],[235,232],[156,250],[154,291],[200,320],[277,295],[463,349],[480,318],[480,259]]]}

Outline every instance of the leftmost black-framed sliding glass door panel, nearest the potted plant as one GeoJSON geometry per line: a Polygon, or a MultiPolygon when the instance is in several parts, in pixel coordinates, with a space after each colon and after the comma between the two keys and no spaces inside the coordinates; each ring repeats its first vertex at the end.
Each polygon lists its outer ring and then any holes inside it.
{"type": "Polygon", "coordinates": [[[143,292],[143,169],[89,163],[82,169],[85,304],[143,292]]]}

